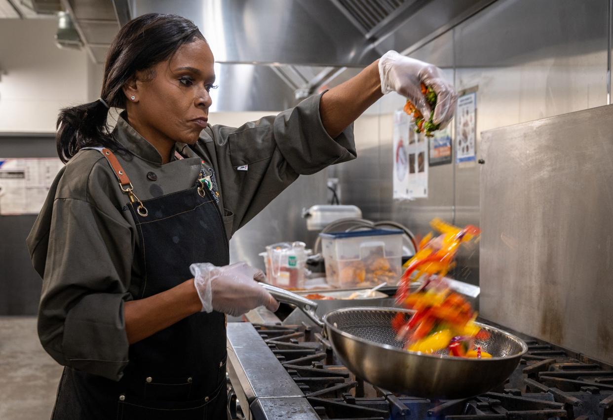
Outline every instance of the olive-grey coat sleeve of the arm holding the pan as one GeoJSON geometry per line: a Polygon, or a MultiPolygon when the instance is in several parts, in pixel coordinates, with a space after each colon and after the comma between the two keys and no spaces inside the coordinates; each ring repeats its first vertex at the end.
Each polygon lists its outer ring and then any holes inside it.
{"type": "MultiPolygon", "coordinates": [[[[131,229],[110,199],[96,193],[108,188],[102,167],[94,166],[85,171],[89,177],[83,177],[78,162],[70,166],[59,180],[55,198],[46,204],[52,208],[43,208],[39,216],[47,219],[48,242],[28,243],[43,277],[39,338],[59,364],[119,380],[128,364],[123,302],[130,296],[131,229]],[[102,209],[97,205],[101,201],[102,209]],[[41,266],[36,254],[44,248],[41,266]]],[[[45,227],[35,224],[30,237],[45,236],[36,229],[45,227]]]]}

